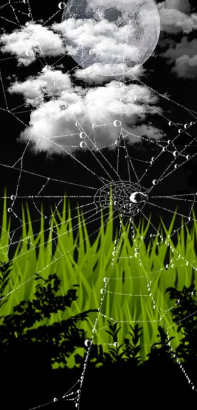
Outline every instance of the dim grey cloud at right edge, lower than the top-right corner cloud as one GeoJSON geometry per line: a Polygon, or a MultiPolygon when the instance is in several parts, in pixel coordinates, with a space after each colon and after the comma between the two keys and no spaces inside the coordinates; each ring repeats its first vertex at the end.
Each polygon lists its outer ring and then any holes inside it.
{"type": "Polygon", "coordinates": [[[197,40],[191,42],[184,36],[180,43],[170,47],[161,56],[174,63],[172,71],[181,78],[197,78],[197,40]]]}

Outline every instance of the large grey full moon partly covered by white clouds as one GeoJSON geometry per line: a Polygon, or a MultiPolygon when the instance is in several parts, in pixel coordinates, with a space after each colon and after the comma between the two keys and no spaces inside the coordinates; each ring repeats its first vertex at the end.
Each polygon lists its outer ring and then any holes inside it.
{"type": "Polygon", "coordinates": [[[81,67],[100,63],[102,75],[122,76],[153,54],[160,18],[154,0],[68,0],[62,33],[81,67]]]}

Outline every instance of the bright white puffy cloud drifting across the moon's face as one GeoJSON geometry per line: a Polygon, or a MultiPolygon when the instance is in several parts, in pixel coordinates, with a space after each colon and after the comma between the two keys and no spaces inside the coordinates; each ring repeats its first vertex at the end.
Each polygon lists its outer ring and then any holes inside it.
{"type": "MultiPolygon", "coordinates": [[[[122,63],[123,52],[126,58],[132,55],[133,61],[138,60],[138,47],[125,43],[126,34],[135,34],[129,24],[117,29],[116,24],[107,20],[97,22],[93,19],[69,18],[60,24],[53,24],[52,29],[68,40],[67,50],[72,56],[77,56],[82,47],[87,47],[105,62],[122,63]]],[[[90,56],[88,58],[91,59],[90,56]]]]}

